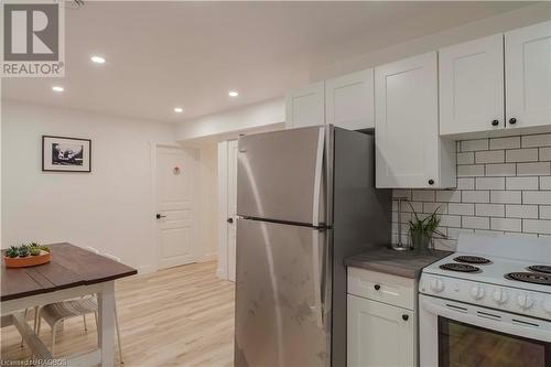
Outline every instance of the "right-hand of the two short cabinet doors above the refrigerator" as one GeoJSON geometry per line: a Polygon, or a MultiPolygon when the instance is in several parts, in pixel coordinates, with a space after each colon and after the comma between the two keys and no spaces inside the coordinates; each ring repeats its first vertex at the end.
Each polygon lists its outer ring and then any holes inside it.
{"type": "Polygon", "coordinates": [[[325,80],[325,121],[348,130],[375,127],[372,68],[325,80]]]}

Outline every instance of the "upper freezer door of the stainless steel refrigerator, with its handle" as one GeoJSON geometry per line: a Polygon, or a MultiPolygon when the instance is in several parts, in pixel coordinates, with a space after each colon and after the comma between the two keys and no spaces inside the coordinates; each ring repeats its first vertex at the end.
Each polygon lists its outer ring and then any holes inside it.
{"type": "Polygon", "coordinates": [[[285,223],[325,224],[324,127],[239,138],[237,214],[285,223]]]}

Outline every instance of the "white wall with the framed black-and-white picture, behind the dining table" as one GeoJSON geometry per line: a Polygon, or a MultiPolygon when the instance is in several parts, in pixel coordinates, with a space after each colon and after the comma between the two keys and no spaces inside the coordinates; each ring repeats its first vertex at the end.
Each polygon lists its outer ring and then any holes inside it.
{"type": "Polygon", "coordinates": [[[151,142],[173,126],[4,101],[2,130],[2,247],[68,241],[153,270],[151,142]],[[42,134],[91,139],[91,173],[42,172],[42,134]]]}

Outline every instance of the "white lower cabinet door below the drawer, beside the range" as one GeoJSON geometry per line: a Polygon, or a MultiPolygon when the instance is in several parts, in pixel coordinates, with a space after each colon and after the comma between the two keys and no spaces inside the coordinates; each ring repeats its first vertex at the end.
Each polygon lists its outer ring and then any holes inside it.
{"type": "Polygon", "coordinates": [[[348,294],[348,367],[415,365],[415,321],[409,310],[348,294]]]}

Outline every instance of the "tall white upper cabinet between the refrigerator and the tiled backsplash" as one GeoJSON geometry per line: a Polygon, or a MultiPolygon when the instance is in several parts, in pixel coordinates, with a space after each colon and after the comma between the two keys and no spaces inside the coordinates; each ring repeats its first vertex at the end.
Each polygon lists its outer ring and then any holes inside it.
{"type": "Polygon", "coordinates": [[[436,52],[375,68],[377,187],[455,186],[455,143],[439,137],[436,52]]]}

